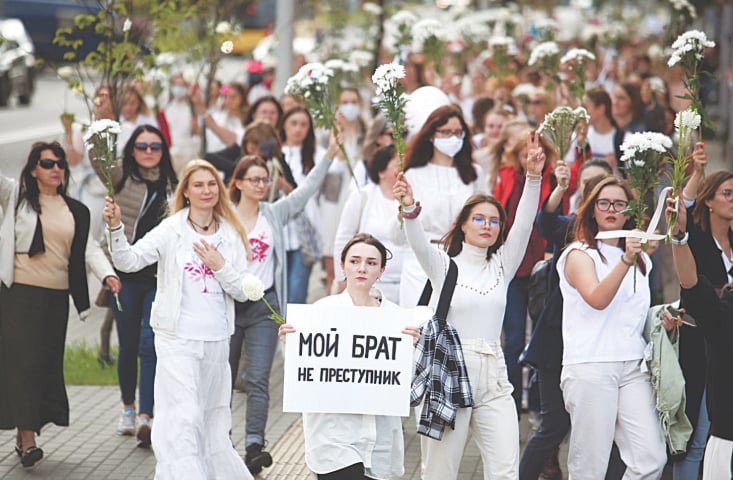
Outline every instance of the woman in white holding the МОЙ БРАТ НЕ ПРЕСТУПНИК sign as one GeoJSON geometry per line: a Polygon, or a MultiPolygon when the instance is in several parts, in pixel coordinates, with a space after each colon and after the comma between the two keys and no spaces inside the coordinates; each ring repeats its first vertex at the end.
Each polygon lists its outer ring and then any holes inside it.
{"type": "MultiPolygon", "coordinates": [[[[396,308],[372,288],[387,265],[387,248],[367,233],[360,233],[341,251],[341,269],[346,290],[325,297],[319,305],[396,308]]],[[[280,340],[295,332],[292,325],[280,326],[280,340]]],[[[417,327],[402,333],[415,340],[417,327]]],[[[404,474],[404,444],[400,417],[346,413],[304,413],[305,462],[319,480],[397,478],[404,474]]]]}

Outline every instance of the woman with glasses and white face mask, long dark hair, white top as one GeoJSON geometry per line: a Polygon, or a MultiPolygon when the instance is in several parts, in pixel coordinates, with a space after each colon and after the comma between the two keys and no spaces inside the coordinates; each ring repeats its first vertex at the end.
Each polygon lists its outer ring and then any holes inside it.
{"type": "MultiPolygon", "coordinates": [[[[405,171],[425,209],[422,225],[436,250],[466,199],[486,193],[483,171],[471,160],[469,133],[458,107],[440,107],[428,116],[405,154],[405,171]]],[[[417,258],[408,252],[400,278],[401,306],[417,305],[425,280],[417,258]]]]}

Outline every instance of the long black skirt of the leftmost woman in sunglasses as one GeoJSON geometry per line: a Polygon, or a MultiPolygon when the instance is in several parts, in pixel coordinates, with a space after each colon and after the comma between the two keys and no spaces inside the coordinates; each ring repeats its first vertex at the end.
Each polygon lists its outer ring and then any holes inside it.
{"type": "Polygon", "coordinates": [[[0,429],[40,434],[69,425],[64,344],[69,292],[13,284],[0,289],[0,429]]]}

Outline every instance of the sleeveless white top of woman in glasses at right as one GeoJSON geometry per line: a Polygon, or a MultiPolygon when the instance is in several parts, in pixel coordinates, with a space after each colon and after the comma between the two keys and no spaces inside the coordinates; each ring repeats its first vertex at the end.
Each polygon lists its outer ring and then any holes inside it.
{"type": "Polygon", "coordinates": [[[586,244],[570,244],[557,262],[560,291],[563,296],[562,338],[563,365],[595,362],[624,362],[644,357],[646,342],[642,336],[651,302],[649,273],[652,262],[642,252],[647,274],[630,267],[618,292],[603,310],[591,307],[565,277],[565,262],[573,250],[582,250],[595,264],[595,273],[603,280],[621,261],[624,251],[598,242],[598,249],[586,244]],[[602,255],[602,257],[601,257],[602,255]],[[634,273],[636,272],[636,292],[634,273]]]}

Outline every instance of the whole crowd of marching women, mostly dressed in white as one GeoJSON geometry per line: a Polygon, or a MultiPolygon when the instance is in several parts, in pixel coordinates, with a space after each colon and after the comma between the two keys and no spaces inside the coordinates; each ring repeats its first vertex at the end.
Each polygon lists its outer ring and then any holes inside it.
{"type": "MultiPolygon", "coordinates": [[[[444,373],[463,386],[445,428],[432,423],[432,405],[417,407],[422,478],[457,478],[471,436],[486,479],[559,479],[568,433],[573,479],[661,478],[668,463],[675,480],[697,479],[703,458],[703,478],[730,478],[733,173],[705,173],[696,143],[681,200],[668,206],[672,247],[598,240],[637,227],[625,135],[672,136],[674,114],[688,106],[670,95],[682,82],[675,69],[609,52],[596,52],[582,99],[549,85],[521,53],[502,82],[486,63],[439,75],[410,54],[407,93],[434,85],[445,95],[406,139],[404,171],[395,126],[368,105],[368,81],[342,85],[336,136],[269,85],[214,82],[203,92],[174,75],[156,113],[142,84],[100,86],[94,119],[114,117],[110,95],[122,106],[114,195],[68,121],[64,147],[34,144],[19,181],[0,176],[0,428],[16,430],[22,465],[43,457],[42,427],[69,423],[68,299],[84,314],[98,291],[109,309],[102,345],[111,322],[118,335],[116,359],[100,352],[103,364],[117,363],[116,433],[152,446],[156,478],[251,478],[271,466],[270,373],[278,336],[286,342],[295,329],[278,329],[241,283],[258,277],[287,321],[288,304],[309,300],[321,262],[321,305],[411,308],[426,283],[450,291],[447,304],[430,301],[440,322],[403,330],[418,373],[450,331],[458,362],[444,373]],[[470,88],[455,88],[463,83],[470,88]],[[564,158],[536,131],[560,105],[589,114],[564,158]],[[652,308],[663,298],[664,248],[681,285],[679,315],[652,308]],[[545,297],[530,315],[534,267],[546,260],[545,297]],[[87,271],[101,281],[96,291],[87,271]],[[662,344],[679,359],[654,364],[662,344]],[[663,388],[672,378],[676,390],[663,388]],[[243,458],[230,439],[240,379],[243,458]],[[520,455],[527,411],[534,433],[520,455]]],[[[404,473],[398,417],[304,413],[303,428],[319,479],[404,473]]]]}

